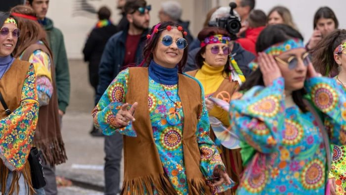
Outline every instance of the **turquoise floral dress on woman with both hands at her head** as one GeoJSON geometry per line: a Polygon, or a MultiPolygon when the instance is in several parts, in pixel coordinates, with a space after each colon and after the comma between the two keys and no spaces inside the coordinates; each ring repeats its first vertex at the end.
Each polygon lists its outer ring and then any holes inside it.
{"type": "MultiPolygon", "coordinates": [[[[316,119],[298,106],[285,108],[284,79],[256,86],[230,105],[232,130],[255,149],[237,194],[323,195],[326,149],[316,119]]],[[[323,115],[330,142],[346,144],[346,96],[335,80],[307,79],[305,89],[323,115]]]]}

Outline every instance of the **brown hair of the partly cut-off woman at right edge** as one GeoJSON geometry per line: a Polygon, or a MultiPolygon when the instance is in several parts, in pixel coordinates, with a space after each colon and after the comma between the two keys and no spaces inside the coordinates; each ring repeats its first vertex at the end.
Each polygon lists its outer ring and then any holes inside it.
{"type": "Polygon", "coordinates": [[[334,49],[346,40],[346,30],[337,29],[324,37],[312,51],[312,64],[323,76],[338,72],[339,65],[334,60],[334,49]]]}

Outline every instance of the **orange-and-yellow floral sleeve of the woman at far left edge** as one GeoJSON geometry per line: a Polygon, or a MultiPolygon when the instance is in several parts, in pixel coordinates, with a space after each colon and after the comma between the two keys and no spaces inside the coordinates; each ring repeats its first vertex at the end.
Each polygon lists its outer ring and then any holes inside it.
{"type": "Polygon", "coordinates": [[[10,171],[23,169],[38,117],[36,75],[34,66],[30,65],[22,88],[20,106],[0,120],[0,158],[10,171]]]}

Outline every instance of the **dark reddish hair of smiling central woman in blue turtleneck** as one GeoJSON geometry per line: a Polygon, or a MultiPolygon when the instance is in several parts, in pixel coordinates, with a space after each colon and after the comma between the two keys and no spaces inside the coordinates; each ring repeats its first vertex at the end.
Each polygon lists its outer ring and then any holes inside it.
{"type": "MultiPolygon", "coordinates": [[[[144,46],[144,49],[143,49],[143,61],[142,63],[139,64],[139,66],[143,66],[144,64],[146,64],[147,66],[149,65],[150,61],[154,58],[154,51],[157,47],[157,44],[159,43],[159,38],[161,36],[161,33],[167,29],[168,26],[171,26],[171,27],[178,27],[180,26],[179,24],[175,23],[175,22],[171,22],[171,21],[168,21],[168,22],[161,22],[159,23],[160,26],[157,27],[158,31],[157,33],[153,33],[155,27],[158,25],[155,25],[153,26],[153,28],[151,28],[150,30],[150,33],[149,35],[151,35],[151,37],[147,40],[147,43],[145,44],[144,46]]],[[[181,34],[182,34],[182,37],[184,39],[186,39],[185,35],[184,35],[184,29],[181,31],[181,34]]],[[[187,51],[188,51],[188,45],[187,47],[184,49],[184,52],[182,54],[182,58],[181,60],[178,62],[178,71],[179,73],[182,73],[182,70],[184,69],[184,66],[186,64],[186,61],[187,61],[187,51]]]]}

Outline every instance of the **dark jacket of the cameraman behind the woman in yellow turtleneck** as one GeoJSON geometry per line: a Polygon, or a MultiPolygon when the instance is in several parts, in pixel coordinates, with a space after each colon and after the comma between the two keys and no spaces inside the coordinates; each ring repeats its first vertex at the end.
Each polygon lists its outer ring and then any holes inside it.
{"type": "MultiPolygon", "coordinates": [[[[197,52],[201,48],[196,48],[188,53],[187,57],[187,62],[184,67],[183,72],[191,71],[191,70],[196,70],[198,69],[195,61],[195,57],[197,52]]],[[[255,55],[252,54],[251,52],[243,49],[238,43],[234,43],[232,53],[234,60],[237,62],[239,68],[243,72],[244,76],[247,77],[251,73],[251,69],[249,68],[249,63],[255,59],[255,55]]]]}

